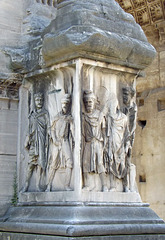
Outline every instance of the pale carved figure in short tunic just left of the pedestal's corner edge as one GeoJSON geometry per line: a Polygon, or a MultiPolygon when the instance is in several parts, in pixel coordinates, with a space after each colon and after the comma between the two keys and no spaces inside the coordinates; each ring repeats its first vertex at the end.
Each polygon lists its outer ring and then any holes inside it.
{"type": "Polygon", "coordinates": [[[65,190],[72,190],[70,187],[70,181],[73,168],[72,150],[74,147],[74,125],[70,112],[70,94],[65,94],[64,98],[61,100],[61,104],[62,111],[57,114],[51,127],[53,149],[51,153],[52,161],[49,164],[48,171],[47,192],[52,190],[52,182],[55,177],[55,173],[59,168],[66,169],[65,190]]]}

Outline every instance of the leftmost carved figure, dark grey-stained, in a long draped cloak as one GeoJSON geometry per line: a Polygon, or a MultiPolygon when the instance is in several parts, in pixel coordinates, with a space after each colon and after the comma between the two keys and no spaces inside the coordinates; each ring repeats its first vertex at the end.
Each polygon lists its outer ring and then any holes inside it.
{"type": "Polygon", "coordinates": [[[29,153],[26,181],[22,192],[26,192],[34,169],[37,171],[37,191],[41,191],[41,179],[45,176],[49,147],[49,115],[44,109],[42,93],[34,94],[35,109],[29,115],[29,133],[25,148],[29,153]]]}

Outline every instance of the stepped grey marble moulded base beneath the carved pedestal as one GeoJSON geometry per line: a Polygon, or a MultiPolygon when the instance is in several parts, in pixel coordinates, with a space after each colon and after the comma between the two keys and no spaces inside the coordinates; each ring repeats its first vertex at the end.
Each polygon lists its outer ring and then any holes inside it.
{"type": "Polygon", "coordinates": [[[143,203],[57,202],[10,208],[1,240],[162,240],[164,221],[143,203]]]}

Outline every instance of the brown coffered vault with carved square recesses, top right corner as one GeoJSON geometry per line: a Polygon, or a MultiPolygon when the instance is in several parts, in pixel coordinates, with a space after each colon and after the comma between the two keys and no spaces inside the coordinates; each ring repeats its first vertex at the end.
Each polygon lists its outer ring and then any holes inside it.
{"type": "Polygon", "coordinates": [[[164,44],[165,0],[116,0],[141,25],[152,44],[164,44]],[[158,39],[159,38],[159,39],[158,39]]]}

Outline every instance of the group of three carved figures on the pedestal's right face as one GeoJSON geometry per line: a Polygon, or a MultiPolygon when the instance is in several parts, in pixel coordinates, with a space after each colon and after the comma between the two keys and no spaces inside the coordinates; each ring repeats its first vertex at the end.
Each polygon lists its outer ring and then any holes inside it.
{"type": "MultiPolygon", "coordinates": [[[[84,190],[92,191],[96,186],[89,174],[98,173],[102,191],[116,191],[116,179],[122,181],[123,191],[135,191],[135,166],[131,163],[131,152],[135,137],[137,106],[132,87],[123,89],[123,109],[116,95],[110,94],[105,106],[96,107],[97,97],[84,91],[85,113],[83,114],[83,176],[84,190]]],[[[121,93],[122,94],[122,93],[121,93]]]]}

